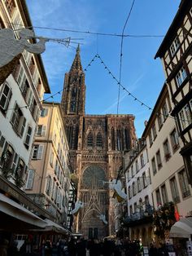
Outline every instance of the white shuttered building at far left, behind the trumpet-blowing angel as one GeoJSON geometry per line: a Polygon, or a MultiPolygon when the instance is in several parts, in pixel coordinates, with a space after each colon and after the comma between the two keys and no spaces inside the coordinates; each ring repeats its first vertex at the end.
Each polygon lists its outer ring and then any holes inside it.
{"type": "MultiPolygon", "coordinates": [[[[24,27],[32,27],[25,1],[1,1],[0,29],[13,29],[18,39],[20,30],[17,29],[24,27]]],[[[35,39],[30,42],[36,43],[35,39]]],[[[41,99],[44,93],[50,93],[50,87],[40,55],[24,51],[11,70],[13,72],[6,80],[2,80],[0,73],[0,204],[1,219],[4,220],[1,230],[6,225],[7,232],[17,232],[27,227],[24,213],[29,210],[50,218],[50,214],[35,205],[24,193],[41,99]],[[8,211],[4,207],[5,201],[8,211]],[[20,209],[18,214],[15,214],[15,207],[20,209]]],[[[35,216],[31,213],[32,223],[35,216]]]]}

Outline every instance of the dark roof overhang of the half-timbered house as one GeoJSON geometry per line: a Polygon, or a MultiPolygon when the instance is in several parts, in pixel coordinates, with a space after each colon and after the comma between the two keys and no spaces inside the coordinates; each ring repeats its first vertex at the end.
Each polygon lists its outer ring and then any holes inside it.
{"type": "Polygon", "coordinates": [[[172,41],[176,37],[177,29],[181,26],[186,11],[190,10],[190,7],[192,6],[191,3],[191,0],[181,0],[177,14],[172,20],[172,24],[170,25],[163,42],[159,46],[159,50],[155,54],[155,59],[158,57],[161,58],[167,48],[171,45],[172,41]]]}

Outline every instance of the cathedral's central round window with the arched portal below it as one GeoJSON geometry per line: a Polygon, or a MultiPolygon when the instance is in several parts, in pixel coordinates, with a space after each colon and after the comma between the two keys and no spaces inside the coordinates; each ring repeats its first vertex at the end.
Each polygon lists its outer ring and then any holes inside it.
{"type": "Polygon", "coordinates": [[[108,186],[106,173],[100,166],[87,167],[82,175],[80,198],[84,207],[80,213],[80,230],[89,238],[107,236],[108,227],[99,219],[101,214],[108,218],[108,186]]]}

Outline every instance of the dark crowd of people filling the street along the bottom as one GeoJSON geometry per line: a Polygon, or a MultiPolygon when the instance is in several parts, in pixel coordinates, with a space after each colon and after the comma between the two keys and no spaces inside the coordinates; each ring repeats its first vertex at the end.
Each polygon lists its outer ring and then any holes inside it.
{"type": "MultiPolygon", "coordinates": [[[[67,240],[59,240],[57,243],[50,241],[42,242],[41,247],[33,252],[27,243],[21,246],[20,251],[15,246],[8,246],[4,250],[3,256],[142,256],[143,246],[140,241],[130,241],[128,238],[115,240],[105,238],[102,241],[85,240],[83,237],[74,239],[70,237],[67,240]]],[[[0,248],[1,251],[1,248],[0,248]]],[[[151,244],[148,250],[149,256],[168,256],[166,246],[160,245],[157,249],[155,245],[151,244]]]]}

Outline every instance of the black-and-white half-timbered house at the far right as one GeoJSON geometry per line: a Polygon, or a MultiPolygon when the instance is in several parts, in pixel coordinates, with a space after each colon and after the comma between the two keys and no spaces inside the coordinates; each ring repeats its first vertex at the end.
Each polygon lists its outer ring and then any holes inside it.
{"type": "Polygon", "coordinates": [[[180,153],[192,185],[192,2],[182,0],[155,58],[162,60],[182,144],[180,153]]]}

